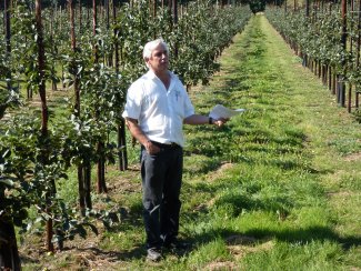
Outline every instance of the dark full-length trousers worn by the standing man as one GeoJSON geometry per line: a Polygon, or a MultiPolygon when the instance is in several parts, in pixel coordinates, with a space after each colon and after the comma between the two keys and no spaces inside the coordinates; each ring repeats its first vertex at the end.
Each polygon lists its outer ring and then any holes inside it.
{"type": "Polygon", "coordinates": [[[147,248],[160,248],[178,234],[179,200],[182,183],[183,150],[181,147],[164,147],[149,154],[141,150],[143,220],[147,248]]]}

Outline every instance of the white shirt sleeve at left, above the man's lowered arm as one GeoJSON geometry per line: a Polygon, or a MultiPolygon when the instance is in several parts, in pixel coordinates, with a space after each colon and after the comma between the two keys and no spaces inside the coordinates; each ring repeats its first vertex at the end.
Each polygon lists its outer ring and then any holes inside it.
{"type": "Polygon", "coordinates": [[[128,89],[127,101],[126,101],[122,117],[139,120],[140,112],[141,112],[141,101],[142,101],[141,82],[136,81],[128,89]]]}

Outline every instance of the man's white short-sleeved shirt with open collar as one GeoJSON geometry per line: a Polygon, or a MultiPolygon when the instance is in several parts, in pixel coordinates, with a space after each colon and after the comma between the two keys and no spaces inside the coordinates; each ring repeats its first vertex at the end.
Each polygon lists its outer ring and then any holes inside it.
{"type": "Polygon", "coordinates": [[[174,73],[169,73],[168,90],[151,70],[134,81],[128,89],[122,117],[138,120],[150,140],[183,147],[183,119],[194,114],[194,108],[182,82],[174,73]]]}

